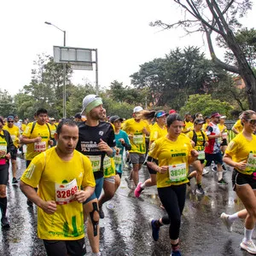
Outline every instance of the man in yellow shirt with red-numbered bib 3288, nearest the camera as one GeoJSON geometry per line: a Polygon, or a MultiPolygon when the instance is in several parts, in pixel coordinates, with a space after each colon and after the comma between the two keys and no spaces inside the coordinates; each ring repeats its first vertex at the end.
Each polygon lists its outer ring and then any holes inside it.
{"type": "Polygon", "coordinates": [[[79,128],[61,121],[57,146],[33,158],[23,173],[20,189],[38,206],[38,237],[48,255],[84,255],[83,202],[95,187],[90,160],[74,150],[79,128]],[[38,194],[33,189],[38,186],[38,194]]]}

